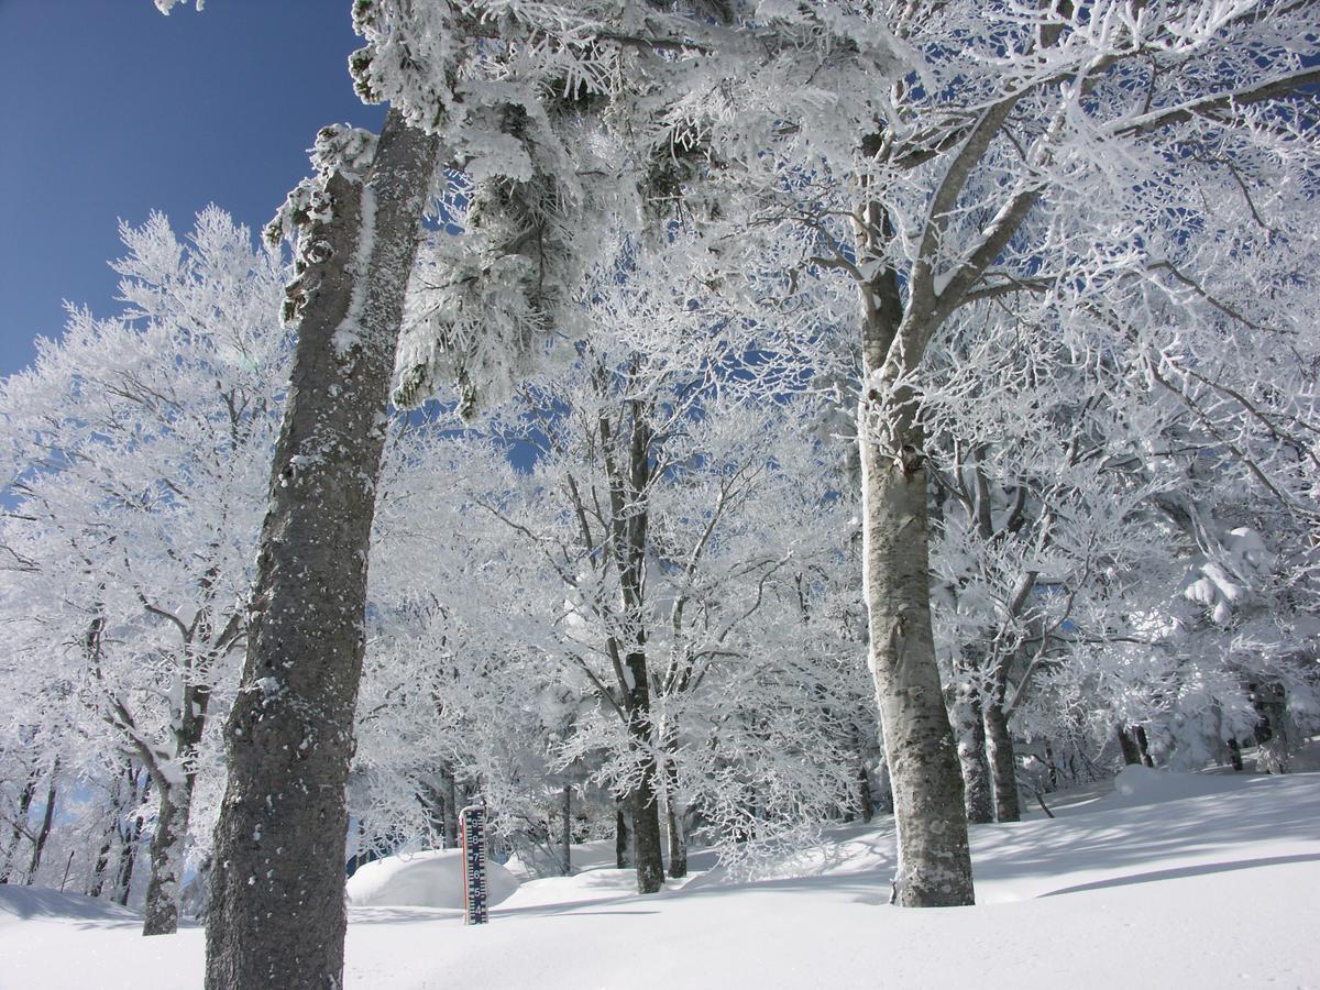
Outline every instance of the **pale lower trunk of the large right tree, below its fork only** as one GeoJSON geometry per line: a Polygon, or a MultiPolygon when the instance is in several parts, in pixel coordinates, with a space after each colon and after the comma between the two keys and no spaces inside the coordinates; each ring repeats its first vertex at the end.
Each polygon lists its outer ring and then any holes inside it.
{"type": "Polygon", "coordinates": [[[931,631],[927,467],[920,428],[903,416],[873,438],[862,404],[863,594],[871,673],[894,788],[899,862],[894,903],[974,900],[962,774],[931,631]]]}

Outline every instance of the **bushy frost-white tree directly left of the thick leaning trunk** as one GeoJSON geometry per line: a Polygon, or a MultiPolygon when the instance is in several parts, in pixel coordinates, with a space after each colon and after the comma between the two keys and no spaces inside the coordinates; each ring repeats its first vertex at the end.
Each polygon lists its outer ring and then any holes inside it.
{"type": "MultiPolygon", "coordinates": [[[[21,620],[12,697],[36,685],[150,775],[145,933],[172,932],[203,738],[247,631],[261,463],[289,341],[279,257],[215,207],[186,242],[154,214],[123,227],[121,318],[70,313],[0,389],[13,500],[5,595],[21,620]]],[[[21,723],[30,718],[8,708],[21,723]]],[[[209,824],[209,822],[207,822],[209,824]]]]}

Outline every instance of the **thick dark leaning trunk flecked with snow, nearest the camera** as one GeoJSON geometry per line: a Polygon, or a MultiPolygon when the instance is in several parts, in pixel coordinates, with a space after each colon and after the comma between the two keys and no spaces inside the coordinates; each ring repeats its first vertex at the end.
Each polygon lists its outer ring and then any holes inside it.
{"type": "Polygon", "coordinates": [[[345,785],[367,549],[404,288],[437,141],[391,111],[366,182],[326,182],[302,235],[304,309],[226,727],[209,990],[343,985],[345,785]]]}

